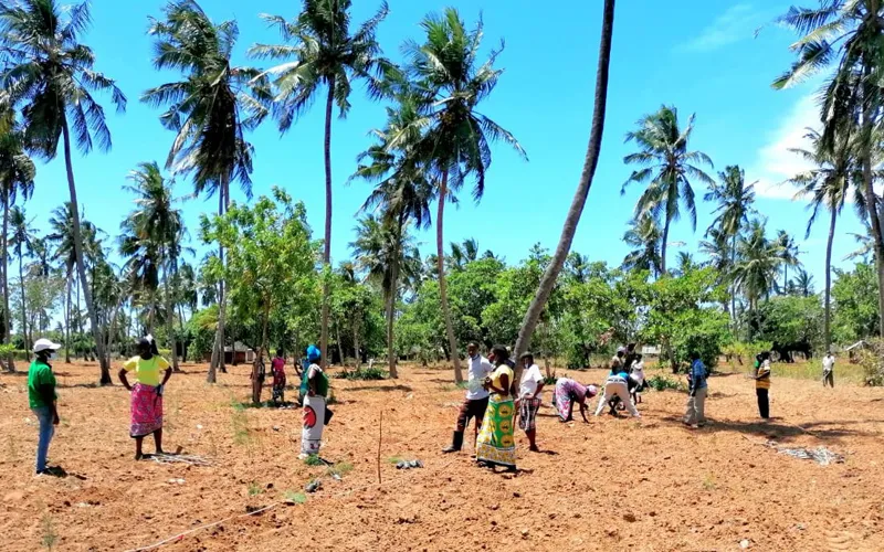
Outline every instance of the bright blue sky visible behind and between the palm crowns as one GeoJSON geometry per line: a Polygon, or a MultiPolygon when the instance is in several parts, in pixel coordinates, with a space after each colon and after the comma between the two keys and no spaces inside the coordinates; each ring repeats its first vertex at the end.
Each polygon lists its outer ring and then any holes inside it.
{"type": "MultiPolygon", "coordinates": [[[[807,0],[813,3],[811,0],[807,0]]],[[[359,0],[356,21],[370,15],[376,2],[359,0]]],[[[160,15],[164,2],[95,0],[94,26],[84,42],[95,50],[97,68],[115,78],[129,98],[125,115],[109,115],[114,147],[109,153],[75,157],[77,189],[87,219],[115,236],[119,222],[131,209],[131,198],[120,189],[128,171],[141,161],[162,163],[173,138],[161,128],[159,110],[139,103],[143,91],[173,79],[150,64],[148,15],[160,15]]],[[[241,62],[255,42],[277,42],[259,20],[261,12],[295,15],[298,2],[287,0],[206,0],[203,8],[215,20],[235,18],[240,25],[241,62]]],[[[494,95],[482,112],[512,130],[528,152],[523,161],[505,147],[496,147],[486,180],[485,197],[476,205],[462,194],[457,210],[446,213],[446,241],[475,237],[482,250],[491,248],[511,263],[527,255],[536,242],[555,247],[561,222],[570,204],[586,151],[592,112],[601,0],[559,2],[559,9],[543,9],[528,0],[389,0],[390,15],[379,38],[388,55],[399,59],[407,38],[421,40],[418,22],[430,11],[453,6],[467,22],[484,17],[487,46],[506,40],[498,65],[506,68],[494,95]],[[567,6],[567,8],[565,8],[567,6]]],[[[593,259],[619,265],[625,246],[621,236],[630,219],[639,188],[620,195],[630,174],[622,163],[630,146],[624,135],[643,114],[662,104],[675,105],[683,119],[696,114],[693,149],[708,153],[715,171],[740,164],[747,179],[759,180],[756,208],[769,219],[770,234],[785,229],[803,240],[808,212],[792,191],[777,185],[801,168],[789,147],[799,146],[803,127],[818,120],[814,86],[775,92],[770,82],[789,66],[788,45],[793,36],[767,26],[785,12],[789,2],[755,0],[682,0],[678,2],[620,2],[614,25],[609,110],[601,161],[573,248],[593,259]]],[[[369,144],[368,131],[383,124],[383,106],[368,102],[361,88],[351,98],[347,119],[336,119],[333,129],[334,227],[333,256],[348,257],[348,243],[357,210],[369,185],[345,185],[356,168],[356,157],[369,144]]],[[[314,235],[319,237],[324,217],[323,120],[314,108],[287,135],[280,137],[265,125],[249,139],[256,150],[253,173],[255,195],[282,185],[304,201],[314,235]]],[[[108,113],[113,113],[108,109],[108,113]]],[[[190,193],[191,184],[177,182],[177,193],[190,193]]],[[[703,187],[696,187],[698,197],[703,187]]],[[[39,167],[36,191],[27,205],[34,224],[44,229],[49,212],[67,199],[61,158],[39,167]]],[[[234,199],[241,200],[236,191],[234,199]]],[[[196,227],[199,213],[212,211],[217,202],[203,199],[183,204],[192,241],[199,250],[196,227]]],[[[694,251],[712,221],[713,205],[698,205],[696,233],[686,217],[675,224],[671,240],[694,251]]],[[[846,211],[840,222],[834,258],[855,248],[848,232],[859,232],[860,222],[846,211]]],[[[820,221],[801,250],[809,270],[822,283],[825,221],[820,221]]],[[[420,236],[422,251],[434,250],[434,234],[420,236]]],[[[110,245],[110,244],[108,244],[110,245]]],[[[677,247],[671,248],[671,259],[677,247]]],[[[846,264],[844,264],[846,266],[846,264]]]]}

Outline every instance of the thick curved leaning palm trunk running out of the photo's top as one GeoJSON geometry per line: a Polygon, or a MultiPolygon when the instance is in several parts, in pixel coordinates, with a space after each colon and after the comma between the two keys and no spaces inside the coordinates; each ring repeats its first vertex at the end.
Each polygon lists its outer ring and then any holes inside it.
{"type": "MultiPolygon", "coordinates": [[[[561,267],[565,266],[565,261],[571,250],[573,235],[577,232],[577,225],[580,222],[580,215],[583,213],[589,190],[592,187],[592,178],[596,174],[596,167],[599,164],[599,152],[601,151],[601,139],[604,134],[604,113],[608,107],[608,70],[611,63],[611,41],[613,39],[614,28],[614,0],[604,0],[602,23],[601,23],[601,43],[599,45],[599,66],[596,74],[596,97],[594,108],[592,113],[592,129],[589,132],[589,146],[587,147],[587,155],[583,160],[583,171],[580,174],[580,182],[577,184],[577,190],[571,201],[571,206],[565,217],[565,224],[561,229],[561,236],[556,246],[556,253],[549,263],[540,285],[537,287],[537,293],[532,299],[528,311],[525,312],[525,318],[522,321],[522,327],[518,331],[518,339],[516,340],[515,358],[518,359],[532,342],[532,335],[537,327],[537,321],[546,308],[546,301],[549,299],[549,294],[552,293],[552,286],[556,285],[556,279],[561,273],[561,267]]],[[[522,371],[519,363],[516,363],[517,372],[522,371]]],[[[519,373],[516,373],[514,380],[519,381],[519,373]]]]}

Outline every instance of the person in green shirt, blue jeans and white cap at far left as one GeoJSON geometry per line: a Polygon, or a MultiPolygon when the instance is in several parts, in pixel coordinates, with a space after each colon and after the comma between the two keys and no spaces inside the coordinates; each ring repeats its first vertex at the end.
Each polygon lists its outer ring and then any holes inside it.
{"type": "Polygon", "coordinates": [[[55,426],[59,425],[59,410],[55,374],[52,373],[52,364],[49,361],[55,358],[55,351],[61,347],[49,339],[38,339],[34,343],[34,361],[28,370],[28,402],[40,423],[35,466],[38,475],[52,473],[46,468],[46,454],[55,434],[55,426]]]}

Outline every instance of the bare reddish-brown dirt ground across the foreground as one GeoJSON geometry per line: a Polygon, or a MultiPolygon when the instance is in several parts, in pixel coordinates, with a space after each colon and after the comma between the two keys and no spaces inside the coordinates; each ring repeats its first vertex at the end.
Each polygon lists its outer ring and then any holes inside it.
{"type": "MultiPolygon", "coordinates": [[[[397,381],[333,380],[323,456],[343,466],[338,480],[297,459],[298,410],[242,406],[248,368],[214,386],[206,367],[183,369],[166,393],[165,448],[210,467],[135,461],[128,393],[94,386],[95,365],[57,364],[62,423],[50,458],[64,478],[33,477],[27,378],[0,375],[0,550],[41,550],[53,535],[55,550],[129,550],[191,530],[161,549],[884,550],[884,389],[777,379],[775,418],[761,424],[753,382],[714,376],[712,423],[698,431],[681,424],[685,394],[674,391],[646,392],[641,422],[561,424],[547,405],[546,453],[529,453],[517,433],[513,476],[477,468],[472,438],[461,454],[441,454],[463,391],[449,370],[403,367],[397,381]],[[845,460],[823,467],[767,439],[845,460]],[[424,468],[398,470],[397,458],[424,468]],[[317,477],[323,487],[301,503],[296,493],[317,477]]],[[[569,375],[603,380],[600,370],[569,375]]]]}

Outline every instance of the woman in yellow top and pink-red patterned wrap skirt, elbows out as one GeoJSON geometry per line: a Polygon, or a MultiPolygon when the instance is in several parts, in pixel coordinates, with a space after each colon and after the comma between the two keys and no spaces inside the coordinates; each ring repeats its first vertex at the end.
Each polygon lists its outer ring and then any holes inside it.
{"type": "Polygon", "coordinates": [[[144,458],[141,444],[146,436],[154,435],[157,454],[162,454],[162,391],[172,375],[169,361],[157,354],[154,338],[138,340],[138,355],[127,360],[119,370],[119,381],[131,392],[129,435],[135,439],[135,459],[144,458]],[[130,385],[128,372],[135,372],[135,384],[130,385]],[[164,373],[160,383],[159,374],[164,373]]]}

